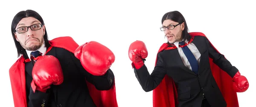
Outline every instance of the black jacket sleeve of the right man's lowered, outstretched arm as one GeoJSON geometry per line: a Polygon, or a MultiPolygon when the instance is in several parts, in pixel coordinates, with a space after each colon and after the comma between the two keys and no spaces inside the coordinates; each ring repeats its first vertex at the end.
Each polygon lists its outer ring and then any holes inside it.
{"type": "Polygon", "coordinates": [[[233,76],[236,74],[236,72],[238,72],[238,69],[236,67],[234,67],[230,61],[228,61],[224,55],[222,55],[221,53],[219,53],[213,46],[212,44],[209,42],[209,40],[207,38],[205,38],[206,43],[207,43],[207,48],[208,48],[208,52],[209,52],[209,57],[213,59],[213,63],[215,63],[216,65],[218,65],[218,67],[220,67],[223,71],[227,72],[228,75],[230,75],[230,77],[233,78],[233,76]]]}

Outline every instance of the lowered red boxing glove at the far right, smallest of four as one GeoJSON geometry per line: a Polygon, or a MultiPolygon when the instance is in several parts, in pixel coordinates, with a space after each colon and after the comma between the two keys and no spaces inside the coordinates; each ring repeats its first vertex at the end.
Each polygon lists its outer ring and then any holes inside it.
{"type": "Polygon", "coordinates": [[[248,80],[244,76],[240,75],[239,71],[236,72],[236,75],[233,77],[233,81],[233,88],[236,92],[245,92],[249,87],[248,80]]]}

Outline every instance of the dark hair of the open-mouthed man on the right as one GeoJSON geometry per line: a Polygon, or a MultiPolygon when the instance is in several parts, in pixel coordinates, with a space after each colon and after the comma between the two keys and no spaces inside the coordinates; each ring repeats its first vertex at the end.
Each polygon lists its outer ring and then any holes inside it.
{"type": "Polygon", "coordinates": [[[163,21],[167,20],[167,19],[175,21],[177,23],[184,22],[185,28],[182,31],[182,38],[184,40],[188,40],[188,41],[191,39],[191,36],[189,35],[189,29],[188,29],[186,20],[180,12],[178,12],[178,11],[167,12],[166,14],[163,15],[162,24],[163,24],[163,21]]]}

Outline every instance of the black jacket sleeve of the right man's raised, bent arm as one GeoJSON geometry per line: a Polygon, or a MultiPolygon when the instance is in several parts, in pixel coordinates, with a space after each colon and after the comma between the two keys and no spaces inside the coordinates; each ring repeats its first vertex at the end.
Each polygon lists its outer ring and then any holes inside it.
{"type": "Polygon", "coordinates": [[[163,58],[159,53],[157,54],[157,64],[151,74],[149,74],[145,64],[140,69],[134,67],[134,73],[145,92],[154,90],[166,75],[166,67],[163,58]]]}

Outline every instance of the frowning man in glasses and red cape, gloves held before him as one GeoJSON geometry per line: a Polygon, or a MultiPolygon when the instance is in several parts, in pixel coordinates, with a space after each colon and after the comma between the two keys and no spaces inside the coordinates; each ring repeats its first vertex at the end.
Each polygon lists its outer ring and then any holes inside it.
{"type": "Polygon", "coordinates": [[[44,20],[32,10],[18,12],[11,30],[20,57],[9,69],[15,107],[117,107],[109,69],[115,56],[106,46],[48,40],[44,20]]]}

